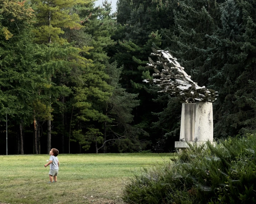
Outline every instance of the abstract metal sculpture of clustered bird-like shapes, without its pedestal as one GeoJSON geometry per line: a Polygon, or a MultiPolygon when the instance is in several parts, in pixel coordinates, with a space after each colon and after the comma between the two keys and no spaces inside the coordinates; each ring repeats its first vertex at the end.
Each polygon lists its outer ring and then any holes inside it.
{"type": "Polygon", "coordinates": [[[146,83],[156,83],[161,88],[159,92],[169,92],[181,98],[182,103],[194,102],[214,102],[216,100],[216,91],[200,87],[190,79],[190,76],[184,71],[184,67],[176,61],[168,51],[156,50],[151,48],[153,53],[150,56],[157,56],[158,61],[154,62],[149,57],[148,66],[153,68],[155,74],[153,77],[160,78],[143,80],[146,83]],[[160,71],[161,70],[161,71],[160,71]]]}

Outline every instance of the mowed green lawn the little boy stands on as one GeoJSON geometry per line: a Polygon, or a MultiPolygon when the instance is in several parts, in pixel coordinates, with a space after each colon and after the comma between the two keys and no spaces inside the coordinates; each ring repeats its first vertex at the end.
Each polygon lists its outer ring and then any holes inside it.
{"type": "Polygon", "coordinates": [[[58,182],[49,181],[49,155],[0,156],[0,203],[123,203],[127,178],[174,154],[59,154],[58,182]]]}

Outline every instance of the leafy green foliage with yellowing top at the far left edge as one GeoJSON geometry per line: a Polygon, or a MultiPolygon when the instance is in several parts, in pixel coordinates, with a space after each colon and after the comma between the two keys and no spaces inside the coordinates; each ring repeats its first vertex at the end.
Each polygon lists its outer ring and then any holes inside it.
{"type": "Polygon", "coordinates": [[[38,100],[37,88],[47,85],[37,63],[41,47],[30,41],[34,14],[26,2],[4,1],[1,15],[0,25],[10,34],[0,38],[1,120],[8,113],[28,124],[33,117],[33,102],[38,100]]]}

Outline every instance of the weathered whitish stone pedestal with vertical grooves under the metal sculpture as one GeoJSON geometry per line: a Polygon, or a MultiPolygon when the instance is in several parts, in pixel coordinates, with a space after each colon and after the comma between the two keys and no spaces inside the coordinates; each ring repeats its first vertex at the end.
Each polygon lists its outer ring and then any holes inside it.
{"type": "Polygon", "coordinates": [[[187,142],[213,142],[212,103],[183,103],[180,123],[180,141],[175,148],[188,147],[187,142]]]}

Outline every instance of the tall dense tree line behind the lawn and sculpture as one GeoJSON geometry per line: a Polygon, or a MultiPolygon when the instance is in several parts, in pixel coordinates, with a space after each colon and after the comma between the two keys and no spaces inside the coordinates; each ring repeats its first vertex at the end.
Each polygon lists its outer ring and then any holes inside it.
{"type": "Polygon", "coordinates": [[[255,2],[0,0],[0,154],[174,150],[181,103],[144,84],[151,47],[218,91],[214,137],[255,132],[255,2]]]}

